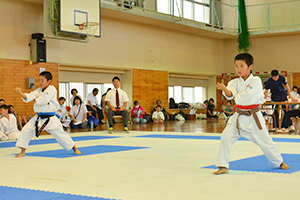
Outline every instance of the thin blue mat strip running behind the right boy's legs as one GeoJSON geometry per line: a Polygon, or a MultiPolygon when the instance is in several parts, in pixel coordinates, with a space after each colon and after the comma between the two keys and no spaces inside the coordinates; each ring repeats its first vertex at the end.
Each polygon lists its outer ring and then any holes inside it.
{"type": "MultiPolygon", "coordinates": [[[[144,137],[144,138],[166,138],[166,139],[193,139],[193,140],[220,140],[221,136],[205,136],[205,135],[165,135],[165,134],[150,134],[150,135],[140,135],[134,137],[144,137]]],[[[272,138],[274,142],[292,142],[300,143],[299,138],[272,138]]],[[[240,137],[239,141],[249,141],[244,137],[240,137]]]]}

